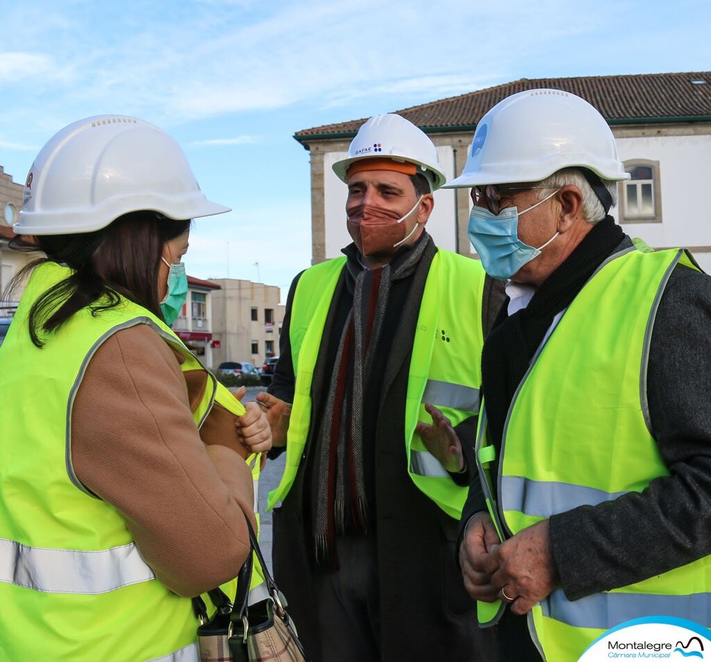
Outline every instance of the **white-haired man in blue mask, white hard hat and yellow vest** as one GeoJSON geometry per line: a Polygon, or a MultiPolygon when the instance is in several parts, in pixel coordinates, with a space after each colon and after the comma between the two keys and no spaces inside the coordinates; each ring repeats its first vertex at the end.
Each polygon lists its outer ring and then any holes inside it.
{"type": "Polygon", "coordinates": [[[711,626],[711,278],[615,224],[627,178],[596,109],[532,89],[483,116],[448,185],[508,281],[459,548],[506,660],[574,661],[637,617],[711,626]]]}

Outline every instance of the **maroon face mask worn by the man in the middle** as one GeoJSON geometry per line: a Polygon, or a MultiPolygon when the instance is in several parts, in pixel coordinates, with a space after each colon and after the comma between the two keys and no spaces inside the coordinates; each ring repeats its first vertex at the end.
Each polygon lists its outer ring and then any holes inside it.
{"type": "Polygon", "coordinates": [[[375,205],[358,205],[346,219],[348,234],[363,256],[392,255],[400,245],[412,236],[417,223],[409,234],[403,221],[417,209],[422,196],[417,198],[415,206],[405,214],[385,210],[375,205]]]}

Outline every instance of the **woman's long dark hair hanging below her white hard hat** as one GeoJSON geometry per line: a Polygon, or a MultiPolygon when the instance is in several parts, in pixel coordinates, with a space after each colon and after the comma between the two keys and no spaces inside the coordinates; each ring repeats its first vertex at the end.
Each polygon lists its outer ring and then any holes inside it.
{"type": "Polygon", "coordinates": [[[13,291],[27,274],[44,262],[58,262],[73,273],[50,287],[33,303],[29,314],[32,342],[42,347],[44,337],[74,313],[89,308],[92,315],[114,308],[119,295],[147,308],[161,320],[156,283],[166,242],[183,234],[191,221],[173,221],[156,212],[131,212],[97,232],[21,237],[10,242],[22,251],[41,250],[47,257],[26,265],[9,283],[13,291]]]}

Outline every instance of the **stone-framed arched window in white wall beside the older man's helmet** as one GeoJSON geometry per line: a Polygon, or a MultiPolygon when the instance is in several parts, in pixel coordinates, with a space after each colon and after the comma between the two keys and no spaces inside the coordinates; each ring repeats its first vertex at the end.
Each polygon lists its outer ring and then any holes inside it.
{"type": "Polygon", "coordinates": [[[659,161],[633,159],[624,162],[631,179],[620,183],[621,221],[661,223],[659,161]]]}

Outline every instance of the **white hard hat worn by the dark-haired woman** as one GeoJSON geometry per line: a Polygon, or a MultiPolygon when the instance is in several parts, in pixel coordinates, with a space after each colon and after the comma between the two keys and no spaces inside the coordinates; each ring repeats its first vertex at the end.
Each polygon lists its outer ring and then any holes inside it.
{"type": "Polygon", "coordinates": [[[205,197],[165,131],[134,117],[97,115],[65,126],[38,153],[14,231],[95,232],[140,210],[183,220],[230,208],[205,197]]]}

